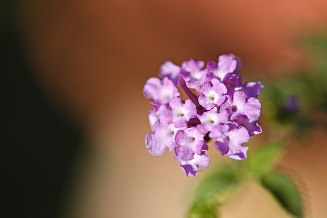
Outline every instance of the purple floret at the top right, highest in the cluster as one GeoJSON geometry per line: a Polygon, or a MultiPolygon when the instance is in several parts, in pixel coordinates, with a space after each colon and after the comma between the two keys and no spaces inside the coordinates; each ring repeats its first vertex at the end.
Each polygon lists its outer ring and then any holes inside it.
{"type": "Polygon", "coordinates": [[[209,74],[223,81],[225,76],[235,72],[238,69],[238,60],[232,55],[221,55],[218,57],[218,63],[209,61],[207,70],[209,74]]]}

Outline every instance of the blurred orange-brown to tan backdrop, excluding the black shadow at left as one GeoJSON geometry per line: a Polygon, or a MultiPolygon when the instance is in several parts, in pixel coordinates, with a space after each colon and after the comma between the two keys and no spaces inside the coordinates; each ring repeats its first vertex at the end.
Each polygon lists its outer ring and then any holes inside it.
{"type": "MultiPolygon", "coordinates": [[[[233,53],[243,61],[244,78],[277,78],[307,67],[302,36],[327,27],[327,2],[319,0],[52,0],[21,3],[17,11],[35,77],[90,145],[77,157],[64,212],[79,218],[182,217],[209,172],[185,178],[172,154],[152,157],[145,149],[151,106],[142,88],[160,64],[233,53]]],[[[312,131],[309,148],[289,144],[281,163],[305,182],[309,217],[327,212],[325,139],[325,132],[312,131]]],[[[208,154],[209,168],[225,159],[214,149],[208,154]]],[[[289,217],[255,183],[221,214],[289,217]]]]}

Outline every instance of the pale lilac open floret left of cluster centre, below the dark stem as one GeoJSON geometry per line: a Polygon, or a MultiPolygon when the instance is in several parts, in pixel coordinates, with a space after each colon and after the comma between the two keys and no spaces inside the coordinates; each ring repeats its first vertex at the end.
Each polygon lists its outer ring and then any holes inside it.
{"type": "Polygon", "coordinates": [[[176,128],[187,127],[190,118],[197,115],[195,104],[191,100],[182,102],[180,97],[173,98],[169,107],[161,105],[159,108],[159,119],[164,125],[175,124],[176,128]]]}

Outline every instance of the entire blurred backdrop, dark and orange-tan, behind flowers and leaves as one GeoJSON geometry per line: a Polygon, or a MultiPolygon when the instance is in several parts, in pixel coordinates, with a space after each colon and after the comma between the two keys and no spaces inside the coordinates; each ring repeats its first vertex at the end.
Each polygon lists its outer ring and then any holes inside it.
{"type": "MultiPolygon", "coordinates": [[[[319,0],[2,4],[1,217],[183,217],[197,182],[226,157],[209,144],[209,168],[186,178],[173,154],[151,156],[145,81],[166,60],[233,53],[243,80],[265,85],[306,71],[303,41],[327,32],[319,0]]],[[[314,128],[304,142],[288,142],[281,161],[302,181],[309,217],[327,212],[326,139],[314,128]]],[[[290,217],[248,186],[222,217],[290,217]]]]}

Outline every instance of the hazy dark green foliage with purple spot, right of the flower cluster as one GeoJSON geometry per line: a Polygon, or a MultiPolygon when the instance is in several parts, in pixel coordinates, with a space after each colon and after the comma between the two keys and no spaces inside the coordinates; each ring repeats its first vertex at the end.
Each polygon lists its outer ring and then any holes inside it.
{"type": "Polygon", "coordinates": [[[292,126],[295,137],[313,126],[327,128],[327,35],[308,36],[305,46],[308,69],[263,81],[260,95],[263,119],[292,126]]]}

